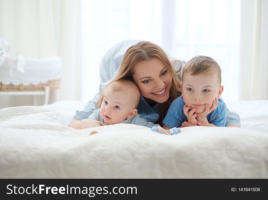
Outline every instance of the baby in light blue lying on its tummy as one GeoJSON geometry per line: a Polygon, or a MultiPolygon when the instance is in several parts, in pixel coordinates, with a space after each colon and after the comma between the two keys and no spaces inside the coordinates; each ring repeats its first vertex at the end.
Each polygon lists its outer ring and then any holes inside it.
{"type": "Polygon", "coordinates": [[[130,80],[112,82],[104,92],[101,107],[95,110],[88,119],[111,124],[136,124],[152,128],[153,122],[137,114],[140,92],[136,84],[130,80]]]}

